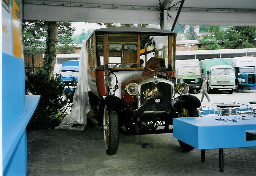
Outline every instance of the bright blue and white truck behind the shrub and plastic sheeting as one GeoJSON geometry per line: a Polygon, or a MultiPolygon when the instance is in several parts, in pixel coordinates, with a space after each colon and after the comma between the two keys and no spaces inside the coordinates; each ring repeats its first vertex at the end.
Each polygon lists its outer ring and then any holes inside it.
{"type": "Polygon", "coordinates": [[[76,87],[78,81],[79,61],[62,61],[62,67],[59,70],[59,76],[61,81],[65,85],[65,89],[68,87],[73,90],[76,87]],[[72,85],[72,81],[75,81],[72,85]]]}

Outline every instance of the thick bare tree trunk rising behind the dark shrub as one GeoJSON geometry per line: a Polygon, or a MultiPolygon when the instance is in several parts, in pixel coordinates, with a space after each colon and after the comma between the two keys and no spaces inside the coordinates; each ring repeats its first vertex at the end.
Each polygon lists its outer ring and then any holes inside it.
{"type": "Polygon", "coordinates": [[[53,76],[55,57],[58,46],[58,21],[47,21],[47,38],[44,53],[43,69],[46,70],[50,77],[53,76]]]}

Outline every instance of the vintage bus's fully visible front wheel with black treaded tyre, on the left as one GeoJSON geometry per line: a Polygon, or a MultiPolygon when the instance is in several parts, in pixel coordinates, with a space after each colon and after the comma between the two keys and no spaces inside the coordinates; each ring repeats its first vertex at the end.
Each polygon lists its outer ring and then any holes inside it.
{"type": "Polygon", "coordinates": [[[103,112],[103,136],[107,154],[115,155],[119,142],[118,115],[117,112],[108,111],[107,106],[103,112]]]}

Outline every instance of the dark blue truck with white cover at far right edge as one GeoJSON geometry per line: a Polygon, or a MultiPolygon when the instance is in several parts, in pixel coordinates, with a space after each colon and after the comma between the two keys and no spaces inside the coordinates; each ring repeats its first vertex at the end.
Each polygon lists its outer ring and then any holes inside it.
{"type": "Polygon", "coordinates": [[[247,90],[248,87],[255,86],[256,57],[242,56],[231,59],[233,63],[232,66],[235,69],[237,92],[240,93],[241,90],[247,90]]]}

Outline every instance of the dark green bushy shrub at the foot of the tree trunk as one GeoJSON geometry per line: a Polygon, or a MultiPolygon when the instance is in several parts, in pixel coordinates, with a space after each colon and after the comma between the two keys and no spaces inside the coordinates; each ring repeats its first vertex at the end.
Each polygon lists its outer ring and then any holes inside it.
{"type": "Polygon", "coordinates": [[[64,91],[64,84],[58,76],[50,77],[49,73],[38,68],[33,74],[27,69],[25,79],[25,93],[41,95],[36,110],[27,125],[28,129],[55,128],[61,122],[61,117],[67,103],[71,103],[73,92],[64,91]],[[64,93],[64,95],[63,95],[64,93]]]}

